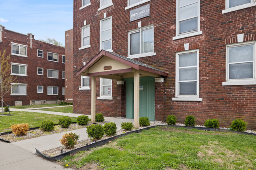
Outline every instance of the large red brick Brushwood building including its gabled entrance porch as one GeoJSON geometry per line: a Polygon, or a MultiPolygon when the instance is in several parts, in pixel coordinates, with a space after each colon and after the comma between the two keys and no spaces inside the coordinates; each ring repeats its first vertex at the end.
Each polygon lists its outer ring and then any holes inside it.
{"type": "Polygon", "coordinates": [[[255,130],[255,18],[253,0],[74,0],[73,112],[255,130]]]}

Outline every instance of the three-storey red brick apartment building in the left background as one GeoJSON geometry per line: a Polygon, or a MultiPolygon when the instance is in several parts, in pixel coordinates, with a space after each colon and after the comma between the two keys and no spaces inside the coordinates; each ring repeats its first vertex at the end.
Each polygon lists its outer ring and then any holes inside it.
{"type": "Polygon", "coordinates": [[[11,75],[17,76],[4,102],[10,106],[50,104],[64,99],[65,48],[41,42],[0,25],[0,51],[11,56],[11,75]]]}

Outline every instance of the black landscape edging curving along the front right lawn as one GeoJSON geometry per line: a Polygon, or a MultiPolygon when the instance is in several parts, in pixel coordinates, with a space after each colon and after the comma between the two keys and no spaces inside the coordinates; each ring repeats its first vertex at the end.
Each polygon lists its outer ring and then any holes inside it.
{"type": "Polygon", "coordinates": [[[80,148],[76,148],[74,150],[70,150],[68,152],[64,152],[62,154],[59,154],[59,155],[56,155],[56,156],[53,156],[53,157],[48,157],[48,156],[42,154],[39,150],[37,150],[37,148],[35,148],[35,150],[36,150],[35,154],[40,155],[41,157],[43,157],[43,158],[45,158],[45,159],[47,159],[49,161],[57,161],[59,159],[64,158],[65,156],[70,155],[70,154],[76,154],[77,152],[80,152],[80,151],[83,151],[83,150],[88,150],[88,149],[91,149],[91,148],[95,148],[97,146],[102,146],[104,144],[109,143],[109,141],[113,141],[113,140],[115,140],[115,139],[117,139],[119,137],[130,135],[131,133],[140,133],[143,130],[149,130],[151,128],[155,128],[155,127],[158,127],[158,126],[165,126],[165,127],[167,126],[167,127],[173,127],[173,128],[197,129],[197,130],[215,131],[215,132],[233,132],[233,133],[238,133],[238,134],[254,135],[254,136],[256,136],[255,133],[238,132],[238,131],[234,131],[234,130],[226,130],[226,129],[219,129],[219,128],[205,128],[205,127],[195,127],[195,126],[179,126],[179,125],[164,125],[164,124],[161,124],[161,125],[149,126],[147,128],[126,132],[126,133],[123,133],[121,135],[109,137],[108,139],[104,139],[102,141],[98,141],[98,142],[96,141],[96,142],[93,142],[91,144],[86,144],[86,146],[82,146],[80,148]]]}

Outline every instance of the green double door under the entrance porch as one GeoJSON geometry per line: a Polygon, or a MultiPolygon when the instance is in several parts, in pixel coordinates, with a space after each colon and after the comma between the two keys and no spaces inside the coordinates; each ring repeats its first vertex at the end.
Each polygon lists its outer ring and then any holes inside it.
{"type": "MultiPolygon", "coordinates": [[[[155,79],[154,77],[139,78],[139,117],[155,120],[155,79]]],[[[134,78],[126,81],[126,118],[134,119],[134,78]]]]}

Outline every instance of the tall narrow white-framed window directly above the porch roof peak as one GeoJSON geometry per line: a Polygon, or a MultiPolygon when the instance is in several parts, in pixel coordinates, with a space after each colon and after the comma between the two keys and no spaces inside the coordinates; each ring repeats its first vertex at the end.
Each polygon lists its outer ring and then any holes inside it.
{"type": "Polygon", "coordinates": [[[111,17],[100,21],[100,49],[113,52],[111,17]]]}

